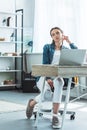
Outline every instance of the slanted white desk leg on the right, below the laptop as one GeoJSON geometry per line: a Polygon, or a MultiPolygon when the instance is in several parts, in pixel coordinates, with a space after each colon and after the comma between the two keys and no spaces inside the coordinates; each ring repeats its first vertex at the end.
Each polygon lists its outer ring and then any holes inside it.
{"type": "Polygon", "coordinates": [[[68,86],[67,86],[67,92],[66,92],[66,99],[65,99],[65,104],[64,104],[61,130],[63,130],[64,121],[65,121],[65,114],[66,114],[66,110],[67,110],[67,104],[69,102],[71,81],[72,81],[72,78],[69,78],[68,86]]]}

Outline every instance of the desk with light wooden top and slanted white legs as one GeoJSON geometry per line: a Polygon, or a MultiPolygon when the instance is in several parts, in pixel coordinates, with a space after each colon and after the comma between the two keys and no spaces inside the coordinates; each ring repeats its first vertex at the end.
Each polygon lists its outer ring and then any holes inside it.
{"type": "MultiPolygon", "coordinates": [[[[62,127],[61,127],[62,130],[64,120],[65,120],[67,104],[69,102],[71,79],[74,76],[87,77],[87,65],[84,66],[57,66],[57,65],[42,65],[42,64],[32,65],[32,75],[42,76],[42,77],[60,76],[63,78],[69,78],[69,83],[67,86],[67,93],[66,93],[67,96],[65,99],[64,112],[62,118],[62,127]]],[[[43,80],[43,87],[44,87],[44,80],[43,80]]],[[[38,118],[36,119],[36,126],[37,126],[37,120],[38,118]]]]}

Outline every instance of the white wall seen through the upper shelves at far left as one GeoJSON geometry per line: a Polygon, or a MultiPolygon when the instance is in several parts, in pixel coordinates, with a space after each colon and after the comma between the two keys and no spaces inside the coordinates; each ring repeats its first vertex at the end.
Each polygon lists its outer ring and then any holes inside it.
{"type": "MultiPolygon", "coordinates": [[[[15,12],[15,0],[3,0],[1,1],[1,4],[0,4],[0,12],[8,12],[8,13],[14,13],[15,12]]],[[[0,13],[0,26],[5,26],[3,25],[3,20],[6,19],[8,16],[5,15],[5,14],[1,14],[0,13]]],[[[11,16],[11,26],[14,26],[14,16],[11,16]]],[[[5,41],[10,41],[10,35],[13,33],[13,30],[12,29],[0,29],[0,38],[5,38],[5,41]]],[[[4,46],[2,44],[0,44],[0,52],[12,52],[14,50],[12,50],[12,46],[14,45],[9,45],[7,46],[7,43],[4,44],[4,46]],[[4,47],[6,45],[6,48],[4,47]]]]}

